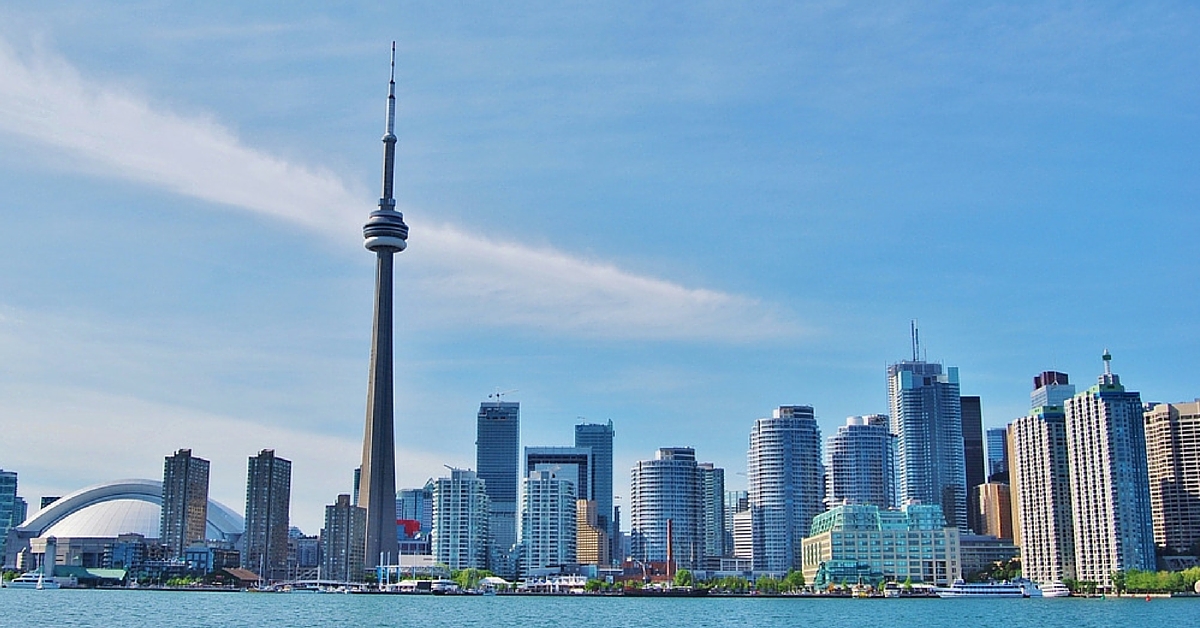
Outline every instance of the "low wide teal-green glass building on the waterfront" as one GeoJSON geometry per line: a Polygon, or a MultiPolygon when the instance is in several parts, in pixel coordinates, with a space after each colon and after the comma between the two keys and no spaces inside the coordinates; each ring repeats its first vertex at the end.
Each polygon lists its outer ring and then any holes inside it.
{"type": "Polygon", "coordinates": [[[959,528],[935,504],[834,507],[814,518],[800,551],[804,579],[818,588],[908,579],[936,586],[962,576],[959,528]]]}

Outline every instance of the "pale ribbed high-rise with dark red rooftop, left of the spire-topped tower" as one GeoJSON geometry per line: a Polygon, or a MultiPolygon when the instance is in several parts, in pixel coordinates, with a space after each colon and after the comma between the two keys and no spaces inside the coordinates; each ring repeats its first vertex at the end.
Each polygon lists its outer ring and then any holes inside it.
{"type": "Polygon", "coordinates": [[[1046,371],[1033,378],[1030,414],[1008,426],[1013,540],[1021,548],[1025,578],[1036,582],[1075,578],[1063,413],[1063,402],[1074,394],[1066,373],[1046,371]]]}

